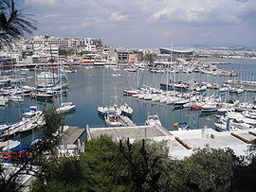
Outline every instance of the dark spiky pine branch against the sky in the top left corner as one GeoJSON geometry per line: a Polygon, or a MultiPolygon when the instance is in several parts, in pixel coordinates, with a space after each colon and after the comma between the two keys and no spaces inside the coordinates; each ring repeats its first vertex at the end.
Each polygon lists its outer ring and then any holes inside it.
{"type": "Polygon", "coordinates": [[[13,0],[0,1],[0,48],[10,42],[32,34],[36,30],[36,21],[29,18],[27,9],[16,9],[13,0]]]}

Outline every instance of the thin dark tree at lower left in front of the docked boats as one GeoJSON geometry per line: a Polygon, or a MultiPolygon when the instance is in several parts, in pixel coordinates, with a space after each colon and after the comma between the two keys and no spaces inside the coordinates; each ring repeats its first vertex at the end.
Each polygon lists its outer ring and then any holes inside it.
{"type": "Polygon", "coordinates": [[[37,167],[43,167],[46,164],[46,160],[50,154],[51,157],[56,157],[56,146],[59,144],[62,127],[64,120],[61,114],[56,113],[54,109],[50,109],[44,112],[45,125],[41,128],[43,130],[42,139],[36,144],[27,148],[25,152],[29,155],[27,158],[21,159],[18,162],[13,162],[13,166],[16,168],[11,171],[6,169],[2,165],[0,166],[0,191],[19,191],[24,185],[19,183],[19,178],[24,174],[30,174],[38,178],[43,178],[45,172],[35,169],[37,167]]]}

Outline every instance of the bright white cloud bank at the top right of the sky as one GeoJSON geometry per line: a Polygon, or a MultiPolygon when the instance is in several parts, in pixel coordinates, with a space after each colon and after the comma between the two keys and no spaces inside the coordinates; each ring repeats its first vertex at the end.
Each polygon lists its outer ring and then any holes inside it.
{"type": "Polygon", "coordinates": [[[164,8],[152,14],[152,21],[239,24],[245,22],[250,11],[256,11],[253,1],[234,0],[178,0],[162,4],[164,8]]]}

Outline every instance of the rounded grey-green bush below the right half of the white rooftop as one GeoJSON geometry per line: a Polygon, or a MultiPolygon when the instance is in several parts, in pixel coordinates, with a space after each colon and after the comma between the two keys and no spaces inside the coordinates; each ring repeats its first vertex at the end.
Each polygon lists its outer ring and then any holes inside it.
{"type": "Polygon", "coordinates": [[[215,148],[196,149],[191,157],[174,169],[176,187],[200,191],[228,191],[233,178],[231,151],[215,148]]]}

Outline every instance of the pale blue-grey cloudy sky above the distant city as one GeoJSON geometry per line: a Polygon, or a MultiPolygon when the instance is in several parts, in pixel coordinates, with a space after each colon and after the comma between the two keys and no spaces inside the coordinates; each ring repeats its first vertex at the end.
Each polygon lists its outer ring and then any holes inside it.
{"type": "Polygon", "coordinates": [[[36,35],[124,47],[256,46],[256,0],[23,0],[36,35]]]}

